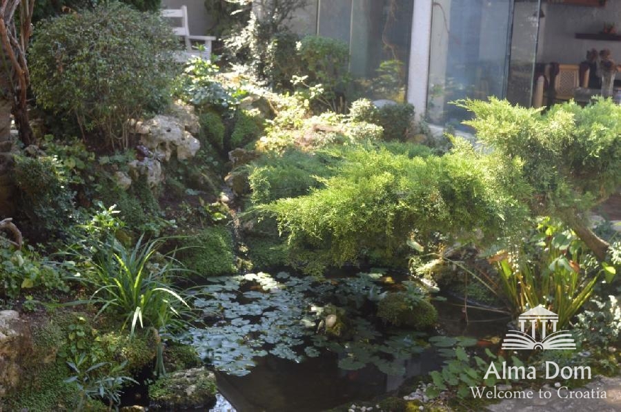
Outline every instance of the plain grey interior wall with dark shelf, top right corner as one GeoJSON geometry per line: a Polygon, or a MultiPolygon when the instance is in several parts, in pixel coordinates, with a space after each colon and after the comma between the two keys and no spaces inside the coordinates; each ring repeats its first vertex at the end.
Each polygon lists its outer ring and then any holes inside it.
{"type": "Polygon", "coordinates": [[[617,23],[621,32],[621,1],[609,0],[605,7],[566,6],[550,3],[545,10],[545,27],[540,37],[538,61],[577,64],[586,50],[610,49],[613,59],[621,61],[621,41],[575,39],[575,33],[598,33],[605,22],[617,23]]]}

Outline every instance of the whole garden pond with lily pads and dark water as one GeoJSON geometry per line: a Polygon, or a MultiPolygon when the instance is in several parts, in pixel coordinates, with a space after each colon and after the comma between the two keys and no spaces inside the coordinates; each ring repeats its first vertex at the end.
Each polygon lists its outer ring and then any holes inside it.
{"type": "Polygon", "coordinates": [[[497,343],[509,316],[469,307],[466,322],[464,301],[451,297],[433,298],[437,330],[375,320],[374,302],[404,278],[381,270],[322,281],[285,271],[210,278],[195,299],[210,326],[184,341],[216,370],[212,411],[322,411],[371,400],[439,369],[438,352],[456,341],[497,343]]]}

